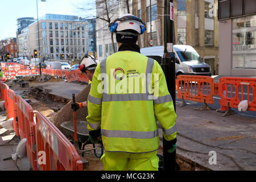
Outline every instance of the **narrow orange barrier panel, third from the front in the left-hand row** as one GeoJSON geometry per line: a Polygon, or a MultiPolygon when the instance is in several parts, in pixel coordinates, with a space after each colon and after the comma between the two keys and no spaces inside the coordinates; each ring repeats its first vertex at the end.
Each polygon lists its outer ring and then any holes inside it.
{"type": "Polygon", "coordinates": [[[11,89],[8,89],[7,101],[8,101],[8,109],[7,109],[8,117],[14,118],[13,119],[13,128],[14,128],[16,136],[18,137],[19,136],[19,124],[18,124],[18,121],[16,121],[16,117],[17,117],[16,95],[13,92],[13,90],[11,90],[11,89]]]}

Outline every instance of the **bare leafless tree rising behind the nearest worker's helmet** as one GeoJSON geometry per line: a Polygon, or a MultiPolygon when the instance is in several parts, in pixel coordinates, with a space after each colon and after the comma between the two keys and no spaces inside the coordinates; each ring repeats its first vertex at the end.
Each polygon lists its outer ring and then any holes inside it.
{"type": "MultiPolygon", "coordinates": [[[[96,26],[96,32],[109,31],[109,25],[118,14],[119,9],[127,9],[130,13],[129,0],[92,0],[85,1],[78,9],[84,11],[86,18],[96,18],[102,20],[102,26],[96,26]]],[[[111,34],[112,48],[115,53],[114,36],[111,34]]]]}

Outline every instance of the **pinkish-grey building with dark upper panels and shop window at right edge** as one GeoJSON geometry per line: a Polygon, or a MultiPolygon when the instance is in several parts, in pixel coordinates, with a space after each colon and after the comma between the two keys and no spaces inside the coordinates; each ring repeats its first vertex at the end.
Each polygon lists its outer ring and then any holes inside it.
{"type": "Polygon", "coordinates": [[[256,76],[256,1],[219,1],[219,65],[223,76],[256,76]]]}

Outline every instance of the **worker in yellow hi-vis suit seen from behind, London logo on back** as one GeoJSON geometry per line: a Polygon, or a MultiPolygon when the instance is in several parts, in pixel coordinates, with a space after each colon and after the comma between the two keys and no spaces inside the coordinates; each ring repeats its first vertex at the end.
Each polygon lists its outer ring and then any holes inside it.
{"type": "Polygon", "coordinates": [[[93,75],[86,117],[90,140],[97,143],[101,135],[106,171],[157,171],[156,119],[170,141],[168,152],[176,148],[176,113],[166,78],[157,61],[141,55],[136,44],[146,30],[141,19],[122,15],[109,30],[118,52],[102,60],[93,75]]]}

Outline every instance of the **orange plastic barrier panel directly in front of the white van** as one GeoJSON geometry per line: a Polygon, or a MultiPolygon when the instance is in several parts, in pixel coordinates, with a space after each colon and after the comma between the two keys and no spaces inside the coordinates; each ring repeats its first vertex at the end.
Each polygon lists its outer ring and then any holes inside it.
{"type": "Polygon", "coordinates": [[[214,79],[209,76],[179,75],[176,79],[177,98],[213,104],[214,79]]]}

